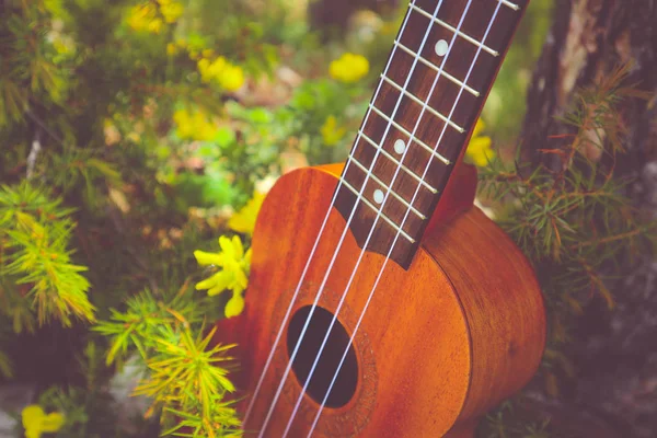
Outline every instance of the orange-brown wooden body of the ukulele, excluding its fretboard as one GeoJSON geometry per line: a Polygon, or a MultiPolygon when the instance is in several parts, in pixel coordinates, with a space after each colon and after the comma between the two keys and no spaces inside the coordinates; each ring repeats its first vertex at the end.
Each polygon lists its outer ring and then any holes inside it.
{"type": "MultiPolygon", "coordinates": [[[[235,379],[244,396],[242,415],[284,325],[341,171],[342,165],[293,171],[263,204],[245,310],[220,321],[218,331],[220,342],[239,344],[235,379]]],[[[324,407],[313,436],[472,437],[477,417],[535,372],[545,343],[545,315],[532,268],[472,205],[474,170],[458,165],[454,173],[411,267],[388,262],[358,324],[385,256],[366,252],[360,260],[337,316],[346,339],[358,327],[353,351],[341,371],[344,379],[332,391],[333,407],[324,407]]],[[[293,333],[324,281],[345,223],[333,209],[244,425],[247,435],[258,431],[267,415],[296,345],[293,333]],[[296,321],[291,328],[290,320],[296,321]]],[[[347,232],[320,296],[318,320],[335,313],[360,254],[347,232]]],[[[309,328],[307,336],[321,343],[321,328],[309,328]]],[[[344,341],[337,347],[327,345],[323,356],[342,357],[344,341]]],[[[326,377],[318,369],[313,397],[301,394],[304,379],[296,370],[285,380],[264,437],[283,436],[299,396],[287,436],[306,437],[310,430],[325,393],[316,388],[326,385],[333,372],[326,377]]]]}

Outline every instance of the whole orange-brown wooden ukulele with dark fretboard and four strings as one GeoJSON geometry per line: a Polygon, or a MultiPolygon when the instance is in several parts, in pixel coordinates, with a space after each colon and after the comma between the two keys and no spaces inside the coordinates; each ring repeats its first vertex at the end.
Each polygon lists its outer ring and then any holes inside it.
{"type": "Polygon", "coordinates": [[[472,437],[545,345],[464,149],[528,0],[414,0],[345,163],[268,193],[238,343],[256,437],[472,437]]]}

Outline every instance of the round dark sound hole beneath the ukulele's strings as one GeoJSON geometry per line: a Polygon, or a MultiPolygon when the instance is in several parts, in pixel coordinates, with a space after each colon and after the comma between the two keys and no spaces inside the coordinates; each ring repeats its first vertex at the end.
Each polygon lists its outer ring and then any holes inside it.
{"type": "MultiPolygon", "coordinates": [[[[306,324],[312,306],[299,309],[290,321],[287,336],[289,358],[291,358],[292,353],[295,351],[297,341],[299,341],[299,336],[301,335],[301,331],[303,330],[303,325],[306,324]]],[[[331,321],[333,321],[333,313],[320,307],[315,308],[310,324],[303,335],[303,339],[301,341],[297,357],[292,362],[292,370],[295,371],[297,379],[299,379],[299,384],[301,384],[301,387],[303,387],[308,379],[308,374],[318,357],[318,353],[324,341],[324,336],[326,336],[331,321]]],[[[324,400],[328,385],[331,385],[331,381],[335,376],[337,366],[339,365],[348,343],[349,335],[347,334],[347,331],[339,321],[335,321],[307,389],[308,395],[315,402],[322,403],[322,400],[324,400]]],[[[335,383],[333,383],[333,388],[326,399],[325,405],[327,407],[341,407],[347,404],[356,392],[357,382],[358,362],[356,360],[354,346],[350,345],[349,351],[339,369],[335,383]]]]}

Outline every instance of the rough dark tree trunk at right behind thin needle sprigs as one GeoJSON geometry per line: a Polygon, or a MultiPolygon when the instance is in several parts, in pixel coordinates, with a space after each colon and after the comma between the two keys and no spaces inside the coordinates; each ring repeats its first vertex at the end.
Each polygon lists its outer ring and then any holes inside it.
{"type": "MultiPolygon", "coordinates": [[[[657,0],[557,0],[528,93],[525,159],[556,165],[554,155],[539,151],[557,147],[548,137],[567,131],[554,116],[564,114],[578,88],[629,61],[634,61],[629,82],[657,92],[657,0]]],[[[615,175],[635,181],[627,195],[657,219],[657,97],[627,100],[622,114],[629,128],[627,153],[620,157],[615,175]]],[[[578,376],[563,396],[561,412],[595,416],[619,437],[654,438],[657,261],[644,254],[624,264],[626,274],[610,285],[618,307],[608,311],[591,304],[573,331],[569,353],[578,376]]]]}

